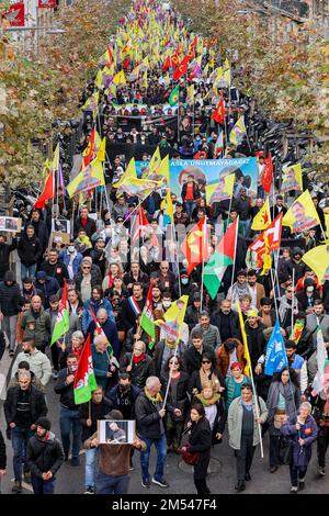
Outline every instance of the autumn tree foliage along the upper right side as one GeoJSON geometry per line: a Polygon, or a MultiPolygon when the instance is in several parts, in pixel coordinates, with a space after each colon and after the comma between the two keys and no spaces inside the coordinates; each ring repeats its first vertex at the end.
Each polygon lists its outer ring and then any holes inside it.
{"type": "Polygon", "coordinates": [[[173,5],[216,55],[235,64],[234,85],[252,96],[269,119],[292,122],[296,133],[308,130],[320,139],[307,160],[327,181],[329,44],[311,21],[288,32],[288,19],[260,15],[248,2],[174,0],[173,5]]]}

